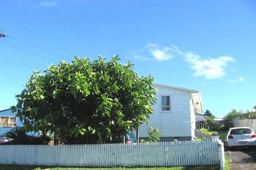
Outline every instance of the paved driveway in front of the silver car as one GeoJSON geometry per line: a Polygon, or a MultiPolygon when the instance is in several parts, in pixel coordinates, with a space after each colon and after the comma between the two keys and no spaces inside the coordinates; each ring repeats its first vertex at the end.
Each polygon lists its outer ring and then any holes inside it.
{"type": "Polygon", "coordinates": [[[235,149],[231,155],[225,152],[225,156],[232,160],[230,170],[252,170],[256,169],[256,150],[235,149]]]}

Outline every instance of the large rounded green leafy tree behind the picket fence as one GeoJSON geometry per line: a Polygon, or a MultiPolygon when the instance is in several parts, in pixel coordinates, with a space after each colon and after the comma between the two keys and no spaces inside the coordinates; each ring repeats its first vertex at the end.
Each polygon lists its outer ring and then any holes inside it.
{"type": "Polygon", "coordinates": [[[64,143],[120,142],[147,122],[156,89],[151,75],[139,77],[130,61],[118,60],[75,57],[42,74],[34,71],[13,111],[26,130],[54,134],[64,143]]]}

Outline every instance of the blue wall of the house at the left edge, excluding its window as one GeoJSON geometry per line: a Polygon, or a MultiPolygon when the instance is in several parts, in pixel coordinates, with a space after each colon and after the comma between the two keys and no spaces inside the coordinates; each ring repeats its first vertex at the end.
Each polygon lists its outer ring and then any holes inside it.
{"type": "MultiPolygon", "coordinates": [[[[0,116],[7,116],[7,117],[15,117],[17,113],[13,113],[11,112],[11,109],[8,110],[2,110],[0,111],[0,116]]],[[[22,127],[23,124],[20,120],[20,118],[17,118],[17,127],[22,127]]],[[[0,135],[4,135],[5,133],[7,133],[7,131],[11,130],[14,127],[0,127],[0,135]]],[[[36,135],[36,133],[27,133],[28,135],[36,135]]]]}

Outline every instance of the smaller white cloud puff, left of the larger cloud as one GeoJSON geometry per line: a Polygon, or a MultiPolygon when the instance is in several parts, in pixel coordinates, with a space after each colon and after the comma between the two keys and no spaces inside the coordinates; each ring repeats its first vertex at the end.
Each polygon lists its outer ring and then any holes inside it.
{"type": "Polygon", "coordinates": [[[174,55],[171,53],[173,51],[172,47],[160,47],[155,43],[148,43],[148,47],[149,51],[156,60],[166,61],[174,57],[174,55]]]}

